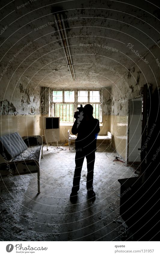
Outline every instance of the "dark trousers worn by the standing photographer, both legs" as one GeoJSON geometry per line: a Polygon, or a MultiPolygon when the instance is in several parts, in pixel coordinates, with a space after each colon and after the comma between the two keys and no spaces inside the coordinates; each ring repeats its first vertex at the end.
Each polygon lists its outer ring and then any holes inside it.
{"type": "Polygon", "coordinates": [[[95,151],[91,153],[77,151],[75,156],[76,168],[74,171],[72,192],[77,192],[80,189],[80,174],[85,156],[87,160],[87,190],[93,190],[93,170],[95,163],[95,151]]]}

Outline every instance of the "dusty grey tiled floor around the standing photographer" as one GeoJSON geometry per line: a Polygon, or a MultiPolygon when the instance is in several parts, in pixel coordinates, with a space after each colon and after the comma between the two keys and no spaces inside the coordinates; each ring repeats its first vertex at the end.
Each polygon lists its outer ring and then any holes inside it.
{"type": "MultiPolygon", "coordinates": [[[[17,234],[14,239],[132,240],[130,232],[125,232],[125,223],[119,216],[120,184],[117,180],[135,176],[134,170],[124,166],[124,163],[113,162],[115,153],[108,150],[106,144],[99,146],[94,169],[95,201],[87,197],[85,160],[78,199],[73,204],[69,196],[75,168],[74,147],[69,151],[68,146],[62,145],[58,149],[49,146],[47,151],[44,146],[43,151],[41,194],[37,195],[37,176],[34,174],[21,204],[19,224],[24,227],[23,234],[17,234]],[[33,235],[28,237],[27,232],[32,232],[33,235]]],[[[14,240],[13,237],[11,239],[14,240]]]]}

